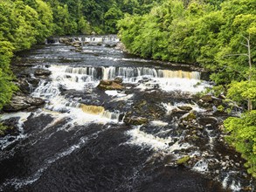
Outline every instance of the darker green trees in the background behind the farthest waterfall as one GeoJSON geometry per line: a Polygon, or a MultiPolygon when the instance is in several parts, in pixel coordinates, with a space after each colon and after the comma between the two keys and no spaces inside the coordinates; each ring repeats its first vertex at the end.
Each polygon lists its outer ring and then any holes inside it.
{"type": "Polygon", "coordinates": [[[124,13],[142,15],[160,1],[45,0],[52,7],[53,31],[58,35],[116,33],[116,23],[124,13]]]}

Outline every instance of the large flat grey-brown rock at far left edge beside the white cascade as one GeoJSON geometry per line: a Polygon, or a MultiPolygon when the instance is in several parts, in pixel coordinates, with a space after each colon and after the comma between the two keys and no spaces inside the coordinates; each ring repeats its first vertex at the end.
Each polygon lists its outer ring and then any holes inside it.
{"type": "Polygon", "coordinates": [[[12,97],[9,104],[3,106],[3,111],[17,112],[31,106],[41,106],[43,104],[45,104],[45,100],[43,99],[16,95],[12,97]]]}

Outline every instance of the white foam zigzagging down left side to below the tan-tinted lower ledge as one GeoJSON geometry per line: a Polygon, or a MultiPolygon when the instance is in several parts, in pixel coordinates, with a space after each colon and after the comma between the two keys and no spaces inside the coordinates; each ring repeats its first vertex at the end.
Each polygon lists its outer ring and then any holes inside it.
{"type": "Polygon", "coordinates": [[[80,80],[70,81],[66,79],[66,68],[66,66],[58,65],[53,65],[50,67],[50,70],[52,71],[52,81],[41,81],[40,85],[35,92],[32,93],[32,95],[35,97],[48,99],[48,103],[45,105],[45,108],[53,112],[64,113],[61,115],[62,118],[72,118],[73,120],[71,123],[73,125],[84,125],[91,122],[97,122],[100,124],[105,124],[107,122],[117,123],[119,121],[119,113],[111,113],[108,111],[104,111],[103,113],[99,114],[85,113],[80,108],[79,100],[68,100],[60,94],[59,86],[65,86],[66,89],[82,90],[83,85],[88,83],[92,83],[93,86],[96,85],[96,82],[93,80],[89,82],[80,82],[80,80]]]}

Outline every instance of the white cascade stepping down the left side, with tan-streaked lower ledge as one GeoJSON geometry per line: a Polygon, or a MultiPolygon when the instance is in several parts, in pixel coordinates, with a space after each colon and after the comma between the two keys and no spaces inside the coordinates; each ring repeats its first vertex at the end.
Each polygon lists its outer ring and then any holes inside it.
{"type": "MultiPolygon", "coordinates": [[[[42,80],[35,92],[32,93],[32,95],[35,97],[41,97],[48,100],[47,104],[45,105],[45,109],[61,113],[75,113],[77,115],[73,117],[74,119],[81,119],[83,115],[80,115],[80,112],[84,112],[84,116],[86,116],[86,114],[95,116],[91,117],[91,120],[93,121],[97,120],[97,117],[112,120],[114,122],[119,121],[120,113],[109,112],[105,110],[103,106],[87,106],[85,104],[80,104],[79,100],[66,99],[61,95],[59,89],[60,87],[66,87],[80,90],[81,88],[90,83],[93,83],[93,85],[95,86],[97,84],[97,81],[93,81],[93,79],[91,79],[90,77],[88,77],[88,79],[85,79],[85,77],[82,75],[80,75],[80,77],[67,77],[66,72],[62,72],[61,70],[63,69],[59,66],[52,66],[50,67],[50,69],[52,69],[52,81],[47,82],[45,80],[42,80]],[[61,70],[59,71],[59,69],[61,70]]],[[[78,74],[84,74],[86,72],[86,74],[91,74],[91,77],[93,77],[93,75],[97,73],[94,68],[73,68],[73,70],[71,69],[72,68],[67,68],[64,71],[78,74]]],[[[90,118],[85,119],[87,121],[90,121],[90,118]]]]}

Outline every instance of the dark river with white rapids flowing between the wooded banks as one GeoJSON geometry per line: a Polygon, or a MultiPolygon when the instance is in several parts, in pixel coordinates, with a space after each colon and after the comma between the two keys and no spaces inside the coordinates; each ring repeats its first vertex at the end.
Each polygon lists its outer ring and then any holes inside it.
{"type": "Polygon", "coordinates": [[[88,39],[82,52],[56,42],[20,53],[52,75],[31,87],[44,107],[2,115],[17,118],[19,134],[1,138],[0,190],[253,191],[244,161],[219,139],[217,126],[179,126],[178,106],[211,113],[193,99],[211,87],[201,72],[106,46],[118,43],[114,37],[88,39]],[[97,88],[100,79],[116,77],[123,91],[97,88]],[[149,121],[128,125],[126,115],[149,121]],[[190,163],[177,166],[183,156],[190,163]]]}

